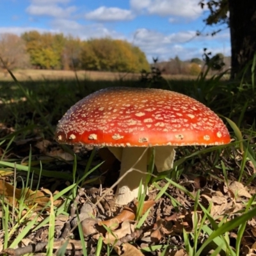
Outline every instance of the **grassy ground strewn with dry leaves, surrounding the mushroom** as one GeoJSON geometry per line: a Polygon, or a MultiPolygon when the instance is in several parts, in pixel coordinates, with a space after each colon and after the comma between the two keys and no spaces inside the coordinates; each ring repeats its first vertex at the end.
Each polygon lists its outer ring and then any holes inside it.
{"type": "Polygon", "coordinates": [[[99,80],[83,73],[78,80],[69,77],[66,81],[54,74],[52,81],[52,71],[44,79],[33,77],[39,71],[23,72],[24,79],[14,72],[14,80],[9,77],[0,82],[0,176],[3,184],[10,184],[0,185],[0,252],[33,253],[29,243],[34,243],[36,251],[46,255],[74,251],[118,255],[117,249],[128,250],[129,243],[129,250],[138,253],[139,249],[144,255],[250,253],[256,225],[254,79],[230,83],[220,74],[211,79],[163,79],[154,84],[141,83],[138,77],[100,76],[99,80]],[[157,176],[153,153],[147,200],[153,200],[154,207],[143,212],[146,198],[139,196],[134,219],[126,216],[115,230],[111,225],[97,227],[84,239],[83,205],[94,205],[91,213],[86,212],[88,216],[112,220],[111,195],[99,198],[116,182],[112,176],[118,172],[118,162],[109,159],[106,166],[108,161],[102,163],[97,150],[60,146],[53,134],[70,106],[109,86],[150,86],[195,97],[223,117],[233,140],[226,146],[179,148],[173,170],[157,176]],[[107,169],[112,174],[106,174],[107,169]],[[73,228],[77,215],[78,228],[73,228]],[[109,243],[106,230],[112,237],[109,243]]]}

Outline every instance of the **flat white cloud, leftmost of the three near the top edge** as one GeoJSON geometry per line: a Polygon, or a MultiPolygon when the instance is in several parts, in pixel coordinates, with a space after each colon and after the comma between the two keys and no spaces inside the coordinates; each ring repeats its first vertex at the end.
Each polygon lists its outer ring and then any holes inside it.
{"type": "Polygon", "coordinates": [[[61,8],[55,4],[51,5],[34,5],[31,4],[26,9],[26,12],[30,15],[38,15],[38,16],[52,16],[52,17],[68,17],[71,13],[76,11],[76,6],[69,6],[67,8],[61,8]]]}

